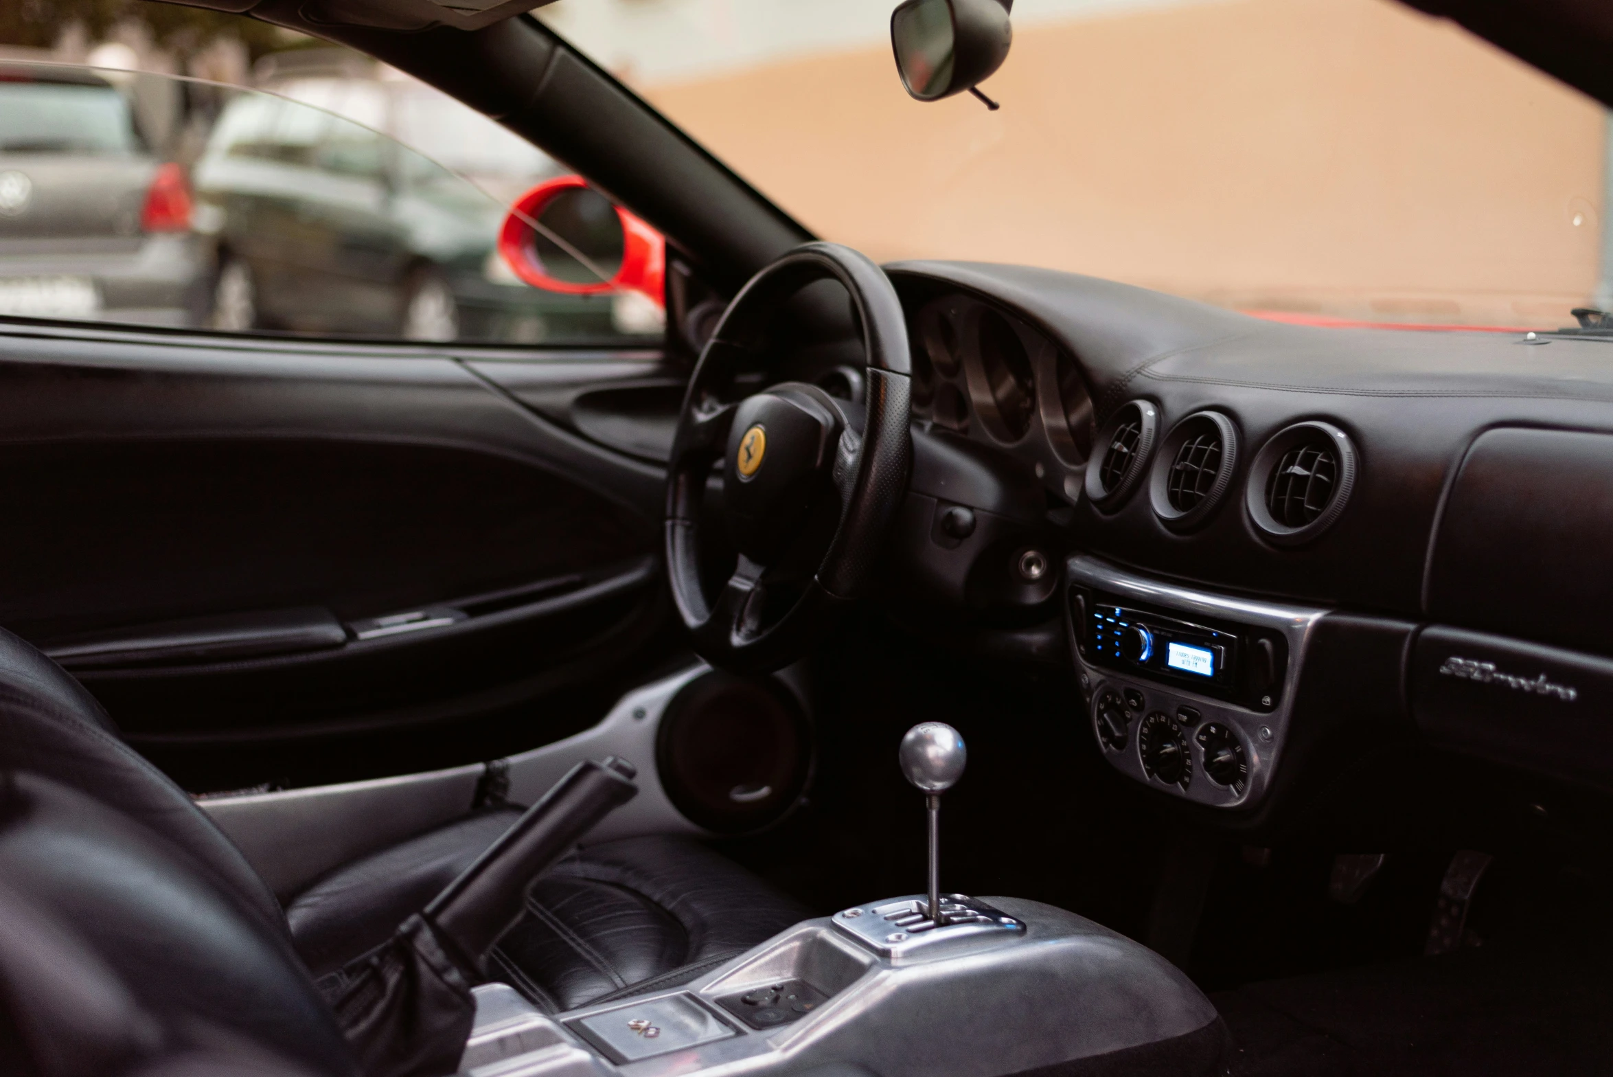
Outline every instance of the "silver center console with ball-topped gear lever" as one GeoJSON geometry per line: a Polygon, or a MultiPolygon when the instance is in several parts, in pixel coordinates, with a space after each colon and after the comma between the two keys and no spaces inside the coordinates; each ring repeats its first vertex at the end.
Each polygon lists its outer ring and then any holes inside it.
{"type": "Polygon", "coordinates": [[[1058,1067],[1218,1071],[1215,1008],[1165,958],[1074,913],[939,888],[940,795],[963,740],[913,727],[902,767],[926,796],[929,890],[805,921],[698,979],[544,1014],[476,988],[473,1077],[1007,1077],[1058,1067]]]}

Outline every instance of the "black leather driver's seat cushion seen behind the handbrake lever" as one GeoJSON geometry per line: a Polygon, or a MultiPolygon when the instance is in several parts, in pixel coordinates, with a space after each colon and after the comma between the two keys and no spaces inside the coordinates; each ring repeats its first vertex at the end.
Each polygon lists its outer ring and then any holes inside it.
{"type": "MultiPolygon", "coordinates": [[[[315,975],[384,943],[519,813],[469,816],[337,869],[286,909],[315,975]]],[[[676,983],[806,917],[755,875],[686,838],[581,850],[532,888],[489,974],[563,1011],[645,983],[676,983]]]]}

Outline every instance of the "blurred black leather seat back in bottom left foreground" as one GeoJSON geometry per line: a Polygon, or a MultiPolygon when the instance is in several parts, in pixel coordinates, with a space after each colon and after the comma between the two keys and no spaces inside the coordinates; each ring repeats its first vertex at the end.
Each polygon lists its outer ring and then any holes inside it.
{"type": "Polygon", "coordinates": [[[150,822],[0,769],[0,1072],[355,1077],[284,924],[150,822]]]}

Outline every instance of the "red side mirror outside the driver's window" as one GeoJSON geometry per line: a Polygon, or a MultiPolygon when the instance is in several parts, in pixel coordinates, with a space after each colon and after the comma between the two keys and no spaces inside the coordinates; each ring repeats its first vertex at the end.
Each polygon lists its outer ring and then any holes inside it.
{"type": "Polygon", "coordinates": [[[498,229],[498,253],[536,289],[565,295],[629,289],[665,305],[666,237],[581,176],[547,179],[521,195],[498,229]]]}

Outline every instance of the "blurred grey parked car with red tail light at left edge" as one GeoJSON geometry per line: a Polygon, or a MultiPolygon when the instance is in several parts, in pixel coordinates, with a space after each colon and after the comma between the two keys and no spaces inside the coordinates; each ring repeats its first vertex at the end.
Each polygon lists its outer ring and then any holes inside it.
{"type": "Polygon", "coordinates": [[[108,77],[0,64],[0,314],[194,322],[208,255],[190,208],[108,77]]]}

